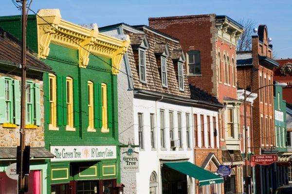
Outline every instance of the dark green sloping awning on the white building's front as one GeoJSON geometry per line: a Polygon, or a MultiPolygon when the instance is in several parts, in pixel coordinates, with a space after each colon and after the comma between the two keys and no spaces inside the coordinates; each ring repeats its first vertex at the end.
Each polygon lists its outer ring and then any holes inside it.
{"type": "Polygon", "coordinates": [[[223,183],[223,177],[215,175],[191,162],[165,162],[169,168],[199,180],[200,186],[223,183]]]}

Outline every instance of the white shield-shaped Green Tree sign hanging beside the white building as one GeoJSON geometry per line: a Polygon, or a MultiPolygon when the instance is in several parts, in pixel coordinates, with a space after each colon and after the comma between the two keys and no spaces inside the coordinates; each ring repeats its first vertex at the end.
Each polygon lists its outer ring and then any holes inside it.
{"type": "Polygon", "coordinates": [[[127,152],[122,153],[122,171],[124,173],[139,172],[139,153],[129,147],[127,152]]]}

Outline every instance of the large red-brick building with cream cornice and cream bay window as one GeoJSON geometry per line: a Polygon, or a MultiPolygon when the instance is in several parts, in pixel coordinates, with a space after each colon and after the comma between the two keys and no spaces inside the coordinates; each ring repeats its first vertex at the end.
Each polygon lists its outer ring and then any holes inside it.
{"type": "MultiPolygon", "coordinates": [[[[148,20],[150,27],[180,39],[187,60],[188,82],[224,104],[225,108],[219,113],[221,162],[232,166],[232,175],[224,184],[225,192],[242,192],[236,45],[243,27],[227,16],[215,14],[148,20]]],[[[208,149],[201,152],[212,153],[208,149]]]]}

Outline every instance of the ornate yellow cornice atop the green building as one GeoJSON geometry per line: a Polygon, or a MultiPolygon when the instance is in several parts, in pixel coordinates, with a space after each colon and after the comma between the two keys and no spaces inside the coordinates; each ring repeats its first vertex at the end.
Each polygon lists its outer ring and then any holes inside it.
{"type": "Polygon", "coordinates": [[[120,40],[82,27],[61,18],[58,9],[41,9],[37,13],[38,56],[46,58],[50,53],[50,43],[78,50],[79,67],[86,68],[89,54],[111,58],[112,74],[119,73],[120,62],[128,51],[130,39],[120,40]]]}

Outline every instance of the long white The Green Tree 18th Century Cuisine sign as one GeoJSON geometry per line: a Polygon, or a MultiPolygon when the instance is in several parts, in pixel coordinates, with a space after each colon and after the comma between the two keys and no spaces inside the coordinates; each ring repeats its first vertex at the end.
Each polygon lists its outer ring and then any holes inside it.
{"type": "Polygon", "coordinates": [[[116,159],[117,151],[114,145],[102,146],[51,146],[55,155],[51,161],[116,159]]]}

